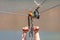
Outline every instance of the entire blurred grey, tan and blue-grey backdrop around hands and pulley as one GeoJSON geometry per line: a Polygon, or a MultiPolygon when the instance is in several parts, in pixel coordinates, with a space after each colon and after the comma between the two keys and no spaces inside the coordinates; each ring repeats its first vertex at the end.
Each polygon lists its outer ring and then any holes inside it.
{"type": "MultiPolygon", "coordinates": [[[[34,0],[0,0],[0,39],[21,39],[21,29],[28,24],[27,15],[35,8],[34,0]]],[[[34,19],[34,26],[40,27],[41,40],[60,40],[60,0],[46,0],[39,12],[40,19],[34,19]]]]}

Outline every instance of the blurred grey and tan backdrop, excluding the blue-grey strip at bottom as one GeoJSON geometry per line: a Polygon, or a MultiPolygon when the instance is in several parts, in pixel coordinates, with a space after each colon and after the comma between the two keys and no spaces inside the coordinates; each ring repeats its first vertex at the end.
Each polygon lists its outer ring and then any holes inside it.
{"type": "MultiPolygon", "coordinates": [[[[44,0],[36,1],[41,3],[44,0]]],[[[46,0],[39,9],[40,19],[35,19],[34,25],[42,31],[60,32],[59,4],[60,0],[46,0]]],[[[0,0],[0,29],[20,30],[27,26],[26,15],[35,8],[34,0],[0,0]]]]}

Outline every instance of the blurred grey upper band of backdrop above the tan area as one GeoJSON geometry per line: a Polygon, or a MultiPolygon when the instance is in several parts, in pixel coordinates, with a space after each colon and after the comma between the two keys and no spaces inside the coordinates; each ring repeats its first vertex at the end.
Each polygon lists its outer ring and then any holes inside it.
{"type": "MultiPolygon", "coordinates": [[[[41,2],[41,0],[38,2],[41,2]]],[[[42,8],[47,9],[57,4],[60,4],[60,0],[46,0],[42,8]]],[[[33,0],[0,0],[0,11],[14,12],[17,10],[30,9],[35,6],[33,0]]]]}

